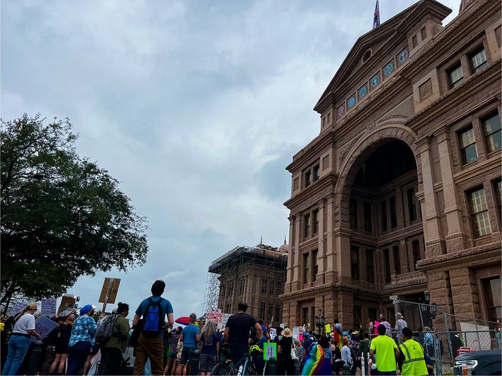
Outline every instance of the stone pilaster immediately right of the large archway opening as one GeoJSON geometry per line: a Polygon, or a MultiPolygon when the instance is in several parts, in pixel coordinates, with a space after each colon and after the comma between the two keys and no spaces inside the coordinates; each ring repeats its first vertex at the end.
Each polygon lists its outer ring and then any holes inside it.
{"type": "Polygon", "coordinates": [[[443,241],[441,224],[437,212],[437,198],[434,192],[434,173],[432,171],[432,159],[430,152],[430,138],[417,142],[420,150],[420,162],[422,165],[423,202],[422,219],[424,226],[425,242],[427,244],[427,257],[439,256],[445,251],[441,247],[443,241]]]}

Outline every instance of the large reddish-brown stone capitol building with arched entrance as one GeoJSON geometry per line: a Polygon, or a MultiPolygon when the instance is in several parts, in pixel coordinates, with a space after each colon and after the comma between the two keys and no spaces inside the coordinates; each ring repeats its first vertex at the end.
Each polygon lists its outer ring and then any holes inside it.
{"type": "Polygon", "coordinates": [[[501,320],[501,1],[450,13],[421,0],[360,36],[315,104],[287,166],[289,327],[393,324],[392,295],[501,320]]]}

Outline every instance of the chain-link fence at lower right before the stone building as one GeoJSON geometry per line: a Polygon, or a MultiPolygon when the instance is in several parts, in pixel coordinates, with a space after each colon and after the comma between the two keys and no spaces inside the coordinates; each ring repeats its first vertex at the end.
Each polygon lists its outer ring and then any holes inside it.
{"type": "MultiPolygon", "coordinates": [[[[459,352],[501,349],[501,324],[466,318],[447,313],[442,306],[412,301],[393,300],[395,313],[401,313],[425,354],[434,360],[436,375],[452,374],[455,357],[459,352]]],[[[393,328],[399,318],[388,320],[393,328]]],[[[397,343],[401,335],[393,329],[397,343]]]]}

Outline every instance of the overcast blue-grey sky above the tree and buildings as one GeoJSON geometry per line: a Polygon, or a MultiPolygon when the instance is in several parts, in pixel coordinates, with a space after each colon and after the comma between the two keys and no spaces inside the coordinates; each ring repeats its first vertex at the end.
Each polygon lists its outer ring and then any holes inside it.
{"type": "MultiPolygon", "coordinates": [[[[380,0],[381,22],[413,0],[380,0]]],[[[441,0],[458,13],[459,0],[441,0]]],[[[1,117],[70,118],[81,157],[148,217],[148,260],[105,277],[135,311],[155,279],[175,319],[201,315],[208,265],[289,236],[285,166],[319,134],[312,108],[374,0],[1,2],[1,117]]],[[[43,251],[43,250],[40,250],[43,251]]],[[[58,301],[59,304],[59,301],[58,301]]],[[[130,315],[132,318],[132,313],[130,315]]]]}

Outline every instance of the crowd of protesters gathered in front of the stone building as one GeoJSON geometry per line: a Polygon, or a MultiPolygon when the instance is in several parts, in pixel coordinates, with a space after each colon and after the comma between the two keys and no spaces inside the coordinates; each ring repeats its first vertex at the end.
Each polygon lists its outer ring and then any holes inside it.
{"type": "Polygon", "coordinates": [[[43,341],[33,316],[38,307],[29,304],[11,322],[1,375],[22,374],[26,353],[36,345],[43,347],[38,375],[206,376],[219,359],[228,357],[238,367],[248,354],[258,375],[356,375],[361,368],[366,375],[396,375],[397,369],[401,375],[434,375],[434,363],[427,356],[432,336],[413,334],[401,313],[396,314],[394,328],[381,315],[378,336],[373,338],[363,330],[344,331],[337,320],[328,333],[294,334],[288,327],[266,327],[263,320],[246,313],[248,305],[243,302],[222,331],[214,321],[197,322],[195,313],[184,328],[174,329],[173,307],[162,298],[164,290],[163,281],[153,283],[152,295],[137,307],[132,327],[128,304],[119,303],[111,315],[102,314],[97,321],[96,308],[86,304],[78,318],[73,314],[53,318],[57,326],[43,341]],[[264,360],[266,343],[275,343],[277,359],[264,360]],[[128,347],[134,349],[132,369],[123,359],[128,347]]]}

